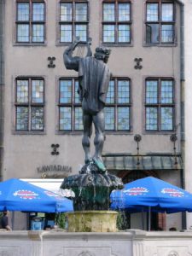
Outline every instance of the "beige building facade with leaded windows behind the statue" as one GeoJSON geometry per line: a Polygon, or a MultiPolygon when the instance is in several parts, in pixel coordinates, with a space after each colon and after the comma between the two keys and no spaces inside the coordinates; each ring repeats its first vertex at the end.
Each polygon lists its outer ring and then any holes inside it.
{"type": "MultiPolygon", "coordinates": [[[[166,0],[6,1],[3,180],[61,178],[84,164],[78,73],[62,59],[79,37],[91,38],[93,52],[112,49],[108,171],[124,183],[154,176],[183,187],[183,12],[183,3],[166,0]]],[[[82,44],[75,54],[85,52],[82,44]]],[[[93,140],[94,134],[94,150],[93,140]]],[[[154,218],[154,228],[185,226],[180,213],[166,223],[165,216],[154,218]]]]}

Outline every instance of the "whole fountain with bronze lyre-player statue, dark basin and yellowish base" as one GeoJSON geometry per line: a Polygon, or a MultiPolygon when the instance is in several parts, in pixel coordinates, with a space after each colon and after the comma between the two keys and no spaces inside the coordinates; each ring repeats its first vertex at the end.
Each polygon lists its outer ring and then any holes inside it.
{"type": "Polygon", "coordinates": [[[94,57],[90,50],[90,40],[86,43],[84,57],[73,56],[80,44],[79,38],[64,52],[67,69],[79,72],[79,98],[82,102],[84,137],[82,145],[85,153],[84,166],[78,175],[64,179],[61,189],[72,189],[74,211],[67,214],[69,231],[74,232],[115,232],[118,212],[109,211],[109,195],[113,189],[122,189],[119,177],[109,174],[102,162],[104,143],[104,106],[111,73],[106,63],[111,50],[97,47],[94,57]],[[90,155],[92,123],[95,126],[94,140],[96,152],[90,155]]]}

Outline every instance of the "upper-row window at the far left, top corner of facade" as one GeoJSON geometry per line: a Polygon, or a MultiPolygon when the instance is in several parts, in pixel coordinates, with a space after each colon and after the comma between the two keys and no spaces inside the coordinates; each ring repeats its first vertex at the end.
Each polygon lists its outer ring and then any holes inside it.
{"type": "Polygon", "coordinates": [[[17,1],[16,9],[16,42],[44,43],[44,1],[17,1]]]}

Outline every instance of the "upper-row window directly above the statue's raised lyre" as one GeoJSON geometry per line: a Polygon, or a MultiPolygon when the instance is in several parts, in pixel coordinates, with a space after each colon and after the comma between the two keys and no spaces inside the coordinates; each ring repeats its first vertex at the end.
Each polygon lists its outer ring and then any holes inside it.
{"type": "Polygon", "coordinates": [[[60,3],[60,42],[71,43],[77,37],[88,38],[88,3],[69,1],[60,3]]]}

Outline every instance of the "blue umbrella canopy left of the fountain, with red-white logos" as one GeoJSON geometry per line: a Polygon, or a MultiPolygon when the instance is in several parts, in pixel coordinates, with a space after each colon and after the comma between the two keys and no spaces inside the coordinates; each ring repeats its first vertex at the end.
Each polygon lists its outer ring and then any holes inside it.
{"type": "Polygon", "coordinates": [[[0,211],[72,212],[73,201],[11,178],[0,183],[0,211]]]}

